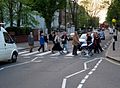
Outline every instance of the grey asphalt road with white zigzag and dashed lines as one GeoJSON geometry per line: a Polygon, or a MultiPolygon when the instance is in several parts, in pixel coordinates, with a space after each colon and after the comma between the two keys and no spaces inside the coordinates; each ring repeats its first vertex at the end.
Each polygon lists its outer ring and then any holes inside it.
{"type": "Polygon", "coordinates": [[[0,88],[119,88],[119,65],[105,58],[110,39],[92,57],[22,51],[16,63],[0,63],[0,88]]]}

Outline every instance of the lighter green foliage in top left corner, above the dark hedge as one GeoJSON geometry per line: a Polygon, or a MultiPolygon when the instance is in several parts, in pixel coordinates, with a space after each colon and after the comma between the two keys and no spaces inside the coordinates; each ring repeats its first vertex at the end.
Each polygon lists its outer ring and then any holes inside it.
{"type": "Polygon", "coordinates": [[[13,23],[12,26],[37,26],[39,23],[35,19],[38,13],[31,11],[31,8],[25,3],[30,4],[32,0],[0,0],[0,20],[6,25],[13,23]],[[11,6],[12,3],[12,6],[11,6]],[[20,8],[20,3],[22,7],[20,8]],[[20,20],[20,23],[18,23],[20,20]]]}

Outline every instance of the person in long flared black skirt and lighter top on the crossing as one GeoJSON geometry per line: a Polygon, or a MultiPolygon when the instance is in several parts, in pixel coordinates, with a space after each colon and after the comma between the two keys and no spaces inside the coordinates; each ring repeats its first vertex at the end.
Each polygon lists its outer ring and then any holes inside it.
{"type": "Polygon", "coordinates": [[[59,51],[60,54],[63,54],[63,48],[60,45],[60,35],[59,32],[55,32],[55,38],[54,38],[54,46],[52,48],[52,53],[54,53],[54,51],[59,51]]]}

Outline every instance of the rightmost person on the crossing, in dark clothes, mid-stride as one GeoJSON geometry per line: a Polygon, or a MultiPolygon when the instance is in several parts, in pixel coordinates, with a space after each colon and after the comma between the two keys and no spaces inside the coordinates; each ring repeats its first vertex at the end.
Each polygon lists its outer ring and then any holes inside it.
{"type": "Polygon", "coordinates": [[[101,48],[101,45],[100,45],[100,43],[101,43],[101,39],[100,39],[100,37],[99,37],[99,35],[98,35],[98,33],[97,32],[95,32],[94,33],[94,53],[99,53],[99,50],[102,52],[103,51],[103,49],[101,48]]]}

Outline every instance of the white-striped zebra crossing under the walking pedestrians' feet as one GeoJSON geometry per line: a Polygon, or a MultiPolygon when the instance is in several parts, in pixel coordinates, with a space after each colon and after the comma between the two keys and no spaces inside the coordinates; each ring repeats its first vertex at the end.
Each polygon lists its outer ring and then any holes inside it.
{"type": "MultiPolygon", "coordinates": [[[[30,57],[30,56],[36,56],[36,57],[43,57],[43,56],[49,56],[49,57],[57,57],[57,56],[64,56],[64,57],[73,57],[72,51],[70,53],[67,53],[66,51],[63,51],[64,54],[60,54],[59,52],[52,53],[51,51],[46,52],[39,52],[39,51],[33,51],[29,52],[27,50],[19,52],[19,56],[22,57],[30,57]]],[[[77,52],[78,54],[81,53],[81,51],[77,52]]]]}

